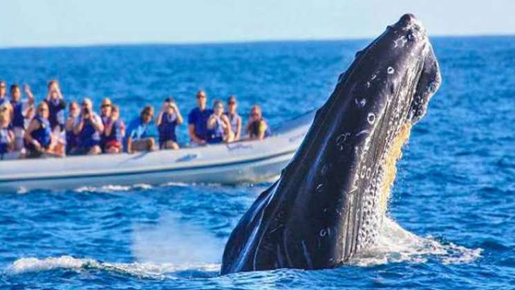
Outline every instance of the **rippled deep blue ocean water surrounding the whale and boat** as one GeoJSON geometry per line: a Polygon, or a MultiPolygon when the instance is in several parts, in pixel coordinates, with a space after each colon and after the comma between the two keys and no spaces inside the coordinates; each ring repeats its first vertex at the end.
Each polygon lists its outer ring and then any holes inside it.
{"type": "MultiPolygon", "coordinates": [[[[225,240],[268,183],[0,192],[0,288],[515,287],[515,37],[435,38],[443,84],[413,128],[380,241],[337,269],[219,276],[225,240]]],[[[0,79],[110,96],[126,120],[195,91],[263,105],[272,125],[323,104],[368,41],[0,50],[0,79]]],[[[185,127],[180,129],[185,140],[185,127]]],[[[0,164],[1,166],[1,164],[0,164]]]]}

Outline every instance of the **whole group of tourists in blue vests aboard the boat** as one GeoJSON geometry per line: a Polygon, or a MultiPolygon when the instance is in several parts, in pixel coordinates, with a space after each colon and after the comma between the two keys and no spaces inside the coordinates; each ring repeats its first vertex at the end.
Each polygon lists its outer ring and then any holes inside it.
{"type": "MultiPolygon", "coordinates": [[[[66,101],[57,80],[48,82],[46,97],[37,105],[30,87],[25,85],[23,89],[26,98],[22,100],[21,87],[12,84],[8,98],[7,84],[0,81],[0,156],[9,152],[19,152],[20,158],[36,158],[179,149],[176,128],[184,119],[174,98],[165,99],[156,118],[153,107],[145,106],[126,127],[120,107],[109,98],[102,100],[100,114],[93,109],[90,98],[84,98],[80,105],[70,102],[66,114],[66,101]]],[[[236,96],[227,99],[227,110],[221,100],[208,108],[203,90],[196,93],[196,101],[197,107],[188,115],[190,146],[231,143],[242,140],[242,136],[261,140],[271,134],[259,105],[252,106],[243,127],[236,96]]]]}

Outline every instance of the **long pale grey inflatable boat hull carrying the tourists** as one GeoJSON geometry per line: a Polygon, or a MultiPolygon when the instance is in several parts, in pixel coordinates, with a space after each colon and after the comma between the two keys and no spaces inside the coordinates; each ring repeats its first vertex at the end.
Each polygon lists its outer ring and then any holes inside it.
{"type": "Polygon", "coordinates": [[[267,181],[290,161],[314,116],[309,112],[285,122],[262,141],[136,154],[4,160],[0,161],[0,190],[267,181]]]}

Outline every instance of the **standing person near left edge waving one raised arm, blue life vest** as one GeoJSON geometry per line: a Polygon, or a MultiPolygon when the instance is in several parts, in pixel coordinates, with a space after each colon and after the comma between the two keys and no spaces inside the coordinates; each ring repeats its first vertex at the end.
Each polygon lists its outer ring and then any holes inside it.
{"type": "Polygon", "coordinates": [[[27,111],[34,105],[34,95],[30,87],[26,84],[24,86],[27,99],[21,100],[21,89],[17,84],[12,84],[10,87],[10,105],[11,109],[11,125],[12,130],[15,132],[15,150],[23,154],[24,149],[24,136],[25,136],[25,122],[27,111]]]}

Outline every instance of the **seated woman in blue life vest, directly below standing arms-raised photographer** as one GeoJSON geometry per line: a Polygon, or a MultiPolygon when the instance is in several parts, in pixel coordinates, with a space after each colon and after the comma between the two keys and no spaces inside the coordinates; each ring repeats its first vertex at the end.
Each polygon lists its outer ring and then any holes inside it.
{"type": "Polygon", "coordinates": [[[35,117],[32,118],[25,132],[26,157],[36,158],[42,154],[55,155],[49,116],[48,104],[41,102],[37,106],[35,117]]]}

